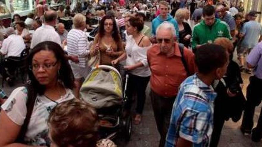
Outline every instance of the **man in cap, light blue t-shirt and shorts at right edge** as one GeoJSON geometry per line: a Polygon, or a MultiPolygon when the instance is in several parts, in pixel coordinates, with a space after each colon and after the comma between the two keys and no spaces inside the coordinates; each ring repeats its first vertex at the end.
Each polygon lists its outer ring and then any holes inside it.
{"type": "MultiPolygon", "coordinates": [[[[241,69],[244,68],[244,56],[246,54],[249,54],[252,48],[257,45],[258,42],[261,42],[262,40],[262,26],[260,23],[256,21],[257,18],[257,12],[250,11],[248,13],[250,17],[250,21],[247,23],[244,23],[244,26],[241,31],[241,35],[244,37],[243,41],[241,42],[241,47],[238,48],[238,59],[240,60],[241,69]],[[259,37],[260,36],[260,37],[259,37]]],[[[250,74],[249,69],[245,69],[247,73],[250,74]]]]}

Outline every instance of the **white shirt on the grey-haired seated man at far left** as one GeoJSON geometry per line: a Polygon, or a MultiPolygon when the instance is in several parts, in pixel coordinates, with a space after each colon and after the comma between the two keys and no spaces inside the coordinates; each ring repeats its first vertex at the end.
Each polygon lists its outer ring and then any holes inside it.
{"type": "Polygon", "coordinates": [[[9,35],[6,39],[4,39],[1,53],[7,54],[7,57],[14,56],[20,57],[21,52],[26,48],[24,44],[24,40],[20,35],[9,35]]]}

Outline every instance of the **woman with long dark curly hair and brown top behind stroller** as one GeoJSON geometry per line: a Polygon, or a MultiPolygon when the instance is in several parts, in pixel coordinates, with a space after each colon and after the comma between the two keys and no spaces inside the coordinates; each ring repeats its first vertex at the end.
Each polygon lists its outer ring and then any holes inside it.
{"type": "Polygon", "coordinates": [[[111,65],[111,61],[124,52],[116,20],[112,16],[106,15],[100,21],[98,34],[95,36],[90,55],[96,56],[99,51],[100,65],[111,65]]]}

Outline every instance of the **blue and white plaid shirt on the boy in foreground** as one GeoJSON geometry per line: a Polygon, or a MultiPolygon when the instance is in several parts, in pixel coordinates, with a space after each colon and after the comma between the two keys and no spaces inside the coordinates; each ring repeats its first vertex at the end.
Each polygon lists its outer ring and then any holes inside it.
{"type": "Polygon", "coordinates": [[[207,147],[213,130],[216,93],[196,74],[180,86],[173,105],[166,147],[176,146],[179,137],[192,142],[194,147],[207,147]]]}

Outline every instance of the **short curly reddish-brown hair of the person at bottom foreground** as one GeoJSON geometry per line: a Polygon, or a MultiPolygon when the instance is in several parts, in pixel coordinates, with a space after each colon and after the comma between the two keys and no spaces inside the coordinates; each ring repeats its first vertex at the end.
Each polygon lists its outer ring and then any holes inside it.
{"type": "Polygon", "coordinates": [[[50,139],[60,147],[95,147],[99,139],[96,110],[79,99],[58,104],[50,113],[48,126],[50,139]]]}

